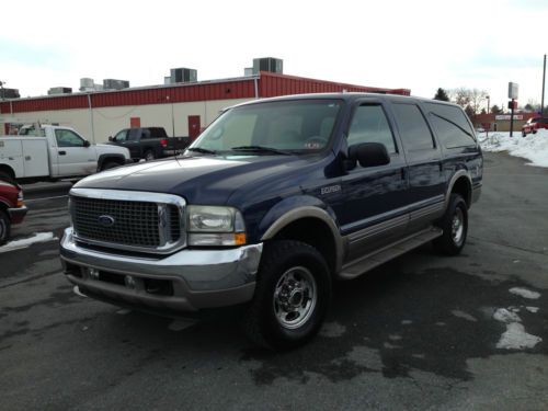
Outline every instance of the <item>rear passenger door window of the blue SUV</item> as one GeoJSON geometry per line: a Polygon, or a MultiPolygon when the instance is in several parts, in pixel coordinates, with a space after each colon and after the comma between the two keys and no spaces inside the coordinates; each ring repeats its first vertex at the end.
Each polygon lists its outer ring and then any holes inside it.
{"type": "Polygon", "coordinates": [[[431,150],[434,139],[419,107],[414,104],[393,104],[396,122],[406,150],[431,150]]]}

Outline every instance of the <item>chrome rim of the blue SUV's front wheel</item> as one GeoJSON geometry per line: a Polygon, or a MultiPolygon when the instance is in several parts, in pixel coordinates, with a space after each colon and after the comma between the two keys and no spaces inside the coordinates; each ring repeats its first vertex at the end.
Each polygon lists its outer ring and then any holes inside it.
{"type": "Polygon", "coordinates": [[[306,323],[318,300],[318,287],[310,270],[304,266],[287,270],[274,289],[274,315],[278,323],[289,330],[306,323]]]}

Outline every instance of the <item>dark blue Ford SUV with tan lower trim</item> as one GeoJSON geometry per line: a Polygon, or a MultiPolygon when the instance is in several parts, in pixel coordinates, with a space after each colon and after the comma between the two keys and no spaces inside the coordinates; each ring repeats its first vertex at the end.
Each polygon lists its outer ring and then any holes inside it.
{"type": "Polygon", "coordinates": [[[246,308],[273,349],[319,330],[336,279],[423,243],[455,255],[482,155],[454,104],[333,93],[225,111],[176,158],[70,191],[60,255],[89,297],[164,316],[246,308]]]}

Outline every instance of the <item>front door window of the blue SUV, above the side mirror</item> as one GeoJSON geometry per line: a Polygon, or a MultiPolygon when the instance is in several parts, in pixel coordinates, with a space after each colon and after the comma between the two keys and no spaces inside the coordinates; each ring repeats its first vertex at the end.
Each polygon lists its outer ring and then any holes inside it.
{"type": "Polygon", "coordinates": [[[361,105],[354,112],[349,129],[349,146],[359,142],[380,142],[388,152],[396,152],[392,132],[379,104],[361,105]]]}

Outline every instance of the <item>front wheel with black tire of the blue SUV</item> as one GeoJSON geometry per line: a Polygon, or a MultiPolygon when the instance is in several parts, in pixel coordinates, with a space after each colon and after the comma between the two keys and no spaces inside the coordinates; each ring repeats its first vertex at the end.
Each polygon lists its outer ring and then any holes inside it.
{"type": "Polygon", "coordinates": [[[297,347],[319,331],[330,300],[331,276],[318,250],[299,241],[273,241],[265,244],[244,332],[263,347],[297,347]]]}

